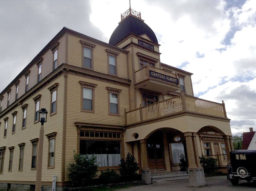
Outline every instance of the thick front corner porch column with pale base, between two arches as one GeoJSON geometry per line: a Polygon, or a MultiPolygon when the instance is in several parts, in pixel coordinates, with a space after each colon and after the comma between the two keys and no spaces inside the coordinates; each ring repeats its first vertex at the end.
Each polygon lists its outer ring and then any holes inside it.
{"type": "Polygon", "coordinates": [[[195,132],[184,133],[188,155],[189,186],[204,186],[204,169],[199,161],[198,147],[195,132]]]}

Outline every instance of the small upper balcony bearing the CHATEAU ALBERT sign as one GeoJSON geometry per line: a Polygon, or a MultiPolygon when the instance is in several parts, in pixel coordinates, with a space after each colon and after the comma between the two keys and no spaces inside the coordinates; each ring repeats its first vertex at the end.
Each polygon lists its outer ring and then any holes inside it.
{"type": "Polygon", "coordinates": [[[176,75],[159,68],[147,66],[135,71],[135,87],[161,92],[163,94],[179,90],[176,75]]]}

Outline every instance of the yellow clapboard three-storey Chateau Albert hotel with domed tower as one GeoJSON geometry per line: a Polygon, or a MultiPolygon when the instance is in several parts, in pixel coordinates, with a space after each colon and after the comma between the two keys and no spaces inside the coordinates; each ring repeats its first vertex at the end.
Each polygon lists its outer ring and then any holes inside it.
{"type": "Polygon", "coordinates": [[[95,154],[99,169],[132,153],[147,183],[179,171],[184,154],[191,185],[204,184],[199,156],[232,150],[230,119],[223,102],[194,97],[192,73],[161,63],[159,46],[132,9],[109,43],[61,29],[0,93],[0,189],[34,187],[41,108],[45,189],[53,175],[58,190],[68,183],[74,151],[95,154]]]}

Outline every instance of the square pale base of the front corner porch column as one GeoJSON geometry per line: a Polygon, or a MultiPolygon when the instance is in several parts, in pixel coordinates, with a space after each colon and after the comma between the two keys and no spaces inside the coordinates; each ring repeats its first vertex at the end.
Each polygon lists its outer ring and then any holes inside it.
{"type": "Polygon", "coordinates": [[[203,167],[188,167],[189,186],[199,187],[205,185],[203,167]]]}

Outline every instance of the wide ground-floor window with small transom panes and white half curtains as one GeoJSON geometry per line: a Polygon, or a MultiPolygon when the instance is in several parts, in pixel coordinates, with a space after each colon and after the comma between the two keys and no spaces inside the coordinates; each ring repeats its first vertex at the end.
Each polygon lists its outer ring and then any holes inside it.
{"type": "Polygon", "coordinates": [[[79,153],[89,157],[94,154],[99,167],[118,166],[121,160],[121,140],[122,132],[80,131],[79,153]]]}

